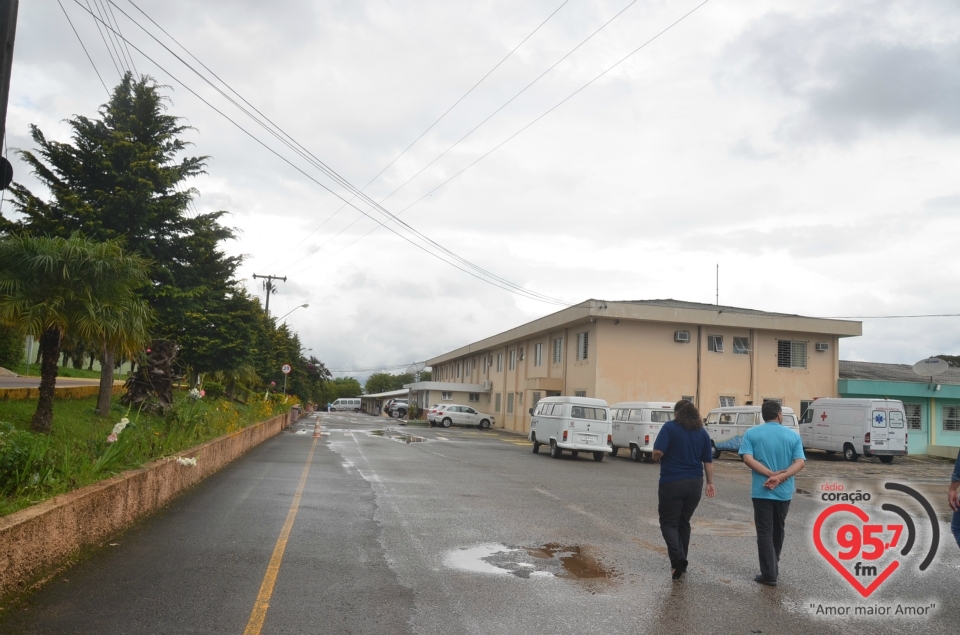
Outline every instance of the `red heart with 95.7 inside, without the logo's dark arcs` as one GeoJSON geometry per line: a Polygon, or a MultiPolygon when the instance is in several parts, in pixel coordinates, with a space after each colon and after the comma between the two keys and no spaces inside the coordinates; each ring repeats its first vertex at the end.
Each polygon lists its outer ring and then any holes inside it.
{"type": "Polygon", "coordinates": [[[893,560],[882,571],[879,570],[878,564],[871,563],[879,560],[887,549],[896,547],[902,532],[903,525],[886,525],[884,527],[881,524],[872,524],[869,514],[859,507],[840,503],[826,508],[817,517],[817,522],[813,526],[813,542],[824,560],[829,562],[843,576],[843,579],[850,583],[850,586],[866,598],[880,588],[880,585],[886,582],[887,578],[899,568],[899,560],[893,560]],[[824,545],[822,536],[823,525],[835,514],[853,514],[860,521],[859,523],[850,522],[839,528],[836,534],[838,546],[836,553],[824,545]],[[884,540],[886,534],[892,534],[888,541],[884,540]],[[851,562],[854,560],[856,560],[855,563],[851,562]],[[845,562],[854,565],[853,572],[850,571],[848,565],[844,564],[845,562]],[[864,585],[860,578],[872,578],[872,581],[864,585]]]}

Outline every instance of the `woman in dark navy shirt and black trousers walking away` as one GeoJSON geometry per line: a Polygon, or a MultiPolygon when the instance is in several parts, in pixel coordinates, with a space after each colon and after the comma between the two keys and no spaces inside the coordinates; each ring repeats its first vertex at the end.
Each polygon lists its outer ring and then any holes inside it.
{"type": "Polygon", "coordinates": [[[710,435],[700,413],[689,401],[673,409],[673,421],[660,428],[653,444],[653,460],[660,463],[658,490],[660,533],[667,543],[671,575],[679,580],[687,570],[690,517],[700,504],[703,473],[707,473],[707,498],[713,498],[713,455],[710,435]]]}

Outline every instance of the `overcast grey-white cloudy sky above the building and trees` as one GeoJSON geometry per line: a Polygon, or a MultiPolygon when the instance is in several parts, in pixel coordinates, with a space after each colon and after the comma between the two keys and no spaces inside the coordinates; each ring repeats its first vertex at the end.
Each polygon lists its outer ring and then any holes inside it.
{"type": "MultiPolygon", "coordinates": [[[[61,1],[112,88],[117,68],[81,8],[96,0],[61,1]]],[[[553,14],[370,185],[377,201],[622,11],[386,199],[394,213],[701,2],[135,1],[358,188],[553,14]]],[[[174,77],[349,198],[344,188],[150,40],[119,9],[163,36],[128,0],[114,2],[122,33],[155,60],[131,50],[137,70],[170,86],[170,112],[196,129],[191,151],[211,157],[192,184],[197,208],[230,212],[241,233],[226,248],[246,255],[251,291],[262,297],[253,273],[288,276],[271,312],[309,303],[288,320],[329,368],[405,365],[557,309],[470,277],[432,257],[435,248],[383,229],[367,235],[376,223],[340,210],[340,199],[174,77]]],[[[93,116],[105,99],[56,0],[21,2],[11,155],[31,147],[30,123],[66,141],[63,120],[93,116]]],[[[710,0],[401,218],[568,303],[712,303],[719,264],[722,304],[811,316],[960,313],[958,150],[956,2],[710,0]]],[[[11,160],[16,179],[36,187],[11,160]]],[[[902,363],[936,353],[960,353],[960,318],[865,320],[863,337],[840,351],[902,363]]]]}

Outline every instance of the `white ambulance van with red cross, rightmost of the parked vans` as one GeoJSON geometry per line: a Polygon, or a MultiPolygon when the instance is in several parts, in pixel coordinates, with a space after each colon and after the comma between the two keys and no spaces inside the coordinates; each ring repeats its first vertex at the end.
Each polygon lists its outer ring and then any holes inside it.
{"type": "Polygon", "coordinates": [[[803,447],[843,452],[856,461],[876,456],[892,463],[907,454],[907,426],[903,403],[895,399],[817,399],[800,421],[803,447]]]}

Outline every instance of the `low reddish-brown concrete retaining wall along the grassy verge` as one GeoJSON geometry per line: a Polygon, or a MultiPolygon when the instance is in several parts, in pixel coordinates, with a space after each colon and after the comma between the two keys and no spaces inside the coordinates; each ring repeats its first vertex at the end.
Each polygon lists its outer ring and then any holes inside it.
{"type": "Polygon", "coordinates": [[[88,485],[0,518],[0,598],[29,588],[69,564],[82,549],[111,537],[163,507],[289,425],[279,415],[180,453],[175,458],[88,485]]]}

